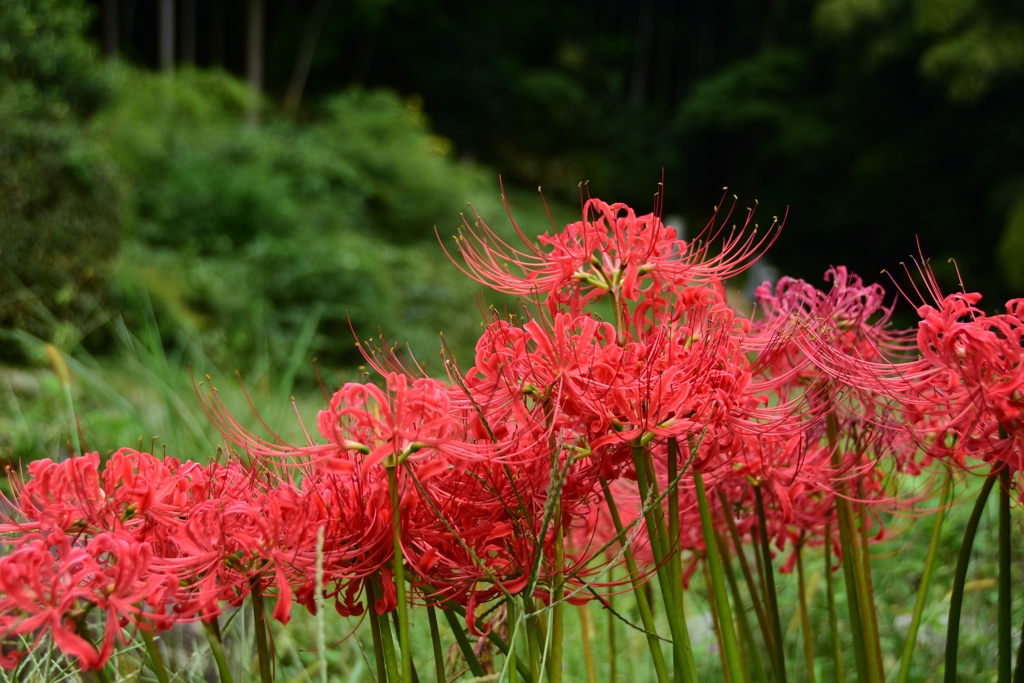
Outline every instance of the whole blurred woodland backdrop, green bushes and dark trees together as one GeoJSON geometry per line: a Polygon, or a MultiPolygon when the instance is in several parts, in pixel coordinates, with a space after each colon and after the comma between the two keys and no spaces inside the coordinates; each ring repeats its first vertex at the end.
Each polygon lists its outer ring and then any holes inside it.
{"type": "Polygon", "coordinates": [[[0,3],[0,327],[74,344],[153,306],[236,367],[313,323],[353,361],[349,319],[465,351],[432,226],[501,223],[498,172],[527,232],[516,186],[563,221],[582,191],[650,207],[664,169],[691,234],[725,185],[790,207],[788,274],[870,280],[916,237],[948,287],[955,258],[989,307],[1024,294],[1024,0],[161,6],[0,3]]]}

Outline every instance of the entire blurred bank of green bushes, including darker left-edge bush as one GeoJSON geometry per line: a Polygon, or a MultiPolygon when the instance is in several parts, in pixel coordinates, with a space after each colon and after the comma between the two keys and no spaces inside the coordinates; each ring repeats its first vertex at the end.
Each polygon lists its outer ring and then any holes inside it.
{"type": "MultiPolygon", "coordinates": [[[[0,57],[0,327],[103,353],[115,323],[152,324],[170,352],[199,344],[248,377],[301,349],[306,382],[314,355],[361,362],[356,335],[409,342],[435,372],[438,332],[471,352],[479,288],[434,226],[450,236],[470,200],[496,222],[504,208],[418,98],[353,87],[300,124],[224,72],[101,62],[89,18],[68,0],[0,7],[16,38],[0,57]]],[[[526,224],[545,215],[529,205],[526,224]]],[[[0,355],[34,357],[16,339],[0,355]]]]}

